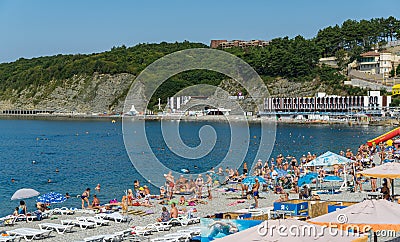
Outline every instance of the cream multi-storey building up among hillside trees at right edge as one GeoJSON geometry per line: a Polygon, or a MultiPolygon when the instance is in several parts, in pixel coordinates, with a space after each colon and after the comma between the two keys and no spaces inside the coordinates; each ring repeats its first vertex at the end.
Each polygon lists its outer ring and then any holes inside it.
{"type": "Polygon", "coordinates": [[[389,77],[400,63],[400,56],[390,52],[369,51],[360,55],[356,69],[367,74],[380,74],[389,77]]]}

